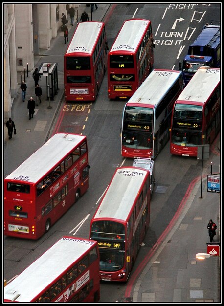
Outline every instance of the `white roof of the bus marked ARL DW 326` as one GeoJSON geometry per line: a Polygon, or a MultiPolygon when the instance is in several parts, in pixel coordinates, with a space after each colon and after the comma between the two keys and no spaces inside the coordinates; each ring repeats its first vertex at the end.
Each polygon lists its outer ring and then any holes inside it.
{"type": "Polygon", "coordinates": [[[149,171],[142,168],[117,168],[93,219],[115,218],[126,221],[147,175],[149,171]]]}

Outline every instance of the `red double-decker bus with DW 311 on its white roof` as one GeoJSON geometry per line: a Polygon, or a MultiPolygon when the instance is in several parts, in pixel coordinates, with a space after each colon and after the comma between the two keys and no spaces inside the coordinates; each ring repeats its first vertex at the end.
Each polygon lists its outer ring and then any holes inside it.
{"type": "Polygon", "coordinates": [[[79,23],[64,56],[66,101],[94,101],[107,69],[103,22],[79,23]]]}

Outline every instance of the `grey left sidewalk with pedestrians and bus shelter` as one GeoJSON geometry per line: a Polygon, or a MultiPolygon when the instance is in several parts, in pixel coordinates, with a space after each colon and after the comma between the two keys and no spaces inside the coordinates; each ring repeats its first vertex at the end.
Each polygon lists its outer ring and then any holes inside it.
{"type": "MultiPolygon", "coordinates": [[[[98,9],[92,12],[92,20],[101,21],[108,9],[110,4],[98,4],[98,9]]],[[[91,8],[87,7],[86,4],[75,5],[75,17],[74,26],[70,25],[70,17],[68,19],[68,43],[70,42],[73,33],[77,27],[77,16],[80,20],[82,12],[85,10],[91,20],[91,8]],[[78,5],[78,7],[77,7],[78,5]],[[78,14],[78,15],[77,15],[78,14]]],[[[4,177],[16,169],[19,164],[17,163],[18,155],[22,156],[23,160],[27,159],[32,153],[39,149],[47,140],[48,135],[53,129],[54,120],[56,119],[57,112],[60,108],[61,102],[64,97],[64,54],[67,50],[67,45],[64,43],[64,32],[61,32],[61,27],[58,30],[56,38],[51,40],[51,46],[49,50],[40,49],[40,54],[34,56],[34,67],[32,71],[28,72],[25,76],[25,83],[27,85],[25,102],[22,101],[22,92],[20,89],[21,85],[21,72],[17,73],[17,97],[13,101],[11,109],[11,118],[15,122],[17,134],[12,139],[8,139],[8,130],[4,122],[4,177]],[[41,76],[39,86],[42,88],[42,103],[36,106],[34,116],[29,120],[27,102],[30,97],[36,101],[35,86],[32,73],[36,67],[39,68],[41,63],[44,62],[58,62],[58,84],[59,90],[54,96],[54,101],[47,99],[47,84],[46,77],[41,76]],[[52,107],[51,109],[48,106],[52,107]],[[5,173],[7,169],[7,173],[5,173]]],[[[24,80],[24,74],[22,74],[22,80],[24,80]]]]}

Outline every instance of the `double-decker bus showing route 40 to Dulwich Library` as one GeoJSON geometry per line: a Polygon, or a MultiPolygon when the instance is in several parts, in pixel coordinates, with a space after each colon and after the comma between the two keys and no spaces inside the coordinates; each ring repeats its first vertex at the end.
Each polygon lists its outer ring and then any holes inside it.
{"type": "Polygon", "coordinates": [[[183,90],[180,71],[154,69],[124,107],[121,155],[155,158],[169,140],[172,108],[183,90]]]}

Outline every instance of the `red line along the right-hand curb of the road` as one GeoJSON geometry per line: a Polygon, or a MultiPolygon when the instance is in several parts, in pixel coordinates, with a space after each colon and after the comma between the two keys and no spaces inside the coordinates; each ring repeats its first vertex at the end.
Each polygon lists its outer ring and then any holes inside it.
{"type": "MultiPolygon", "coordinates": [[[[205,177],[205,176],[206,175],[203,175],[203,177],[205,177]]],[[[187,189],[187,191],[186,191],[186,193],[185,193],[181,203],[179,204],[179,207],[178,207],[177,212],[175,213],[173,219],[170,221],[170,223],[168,224],[166,229],[163,231],[161,236],[158,238],[157,242],[154,244],[152,249],[146,254],[145,258],[142,260],[142,262],[138,266],[138,269],[134,272],[134,274],[132,275],[131,279],[129,280],[128,285],[127,285],[127,289],[125,291],[125,297],[130,297],[130,294],[131,294],[131,291],[132,291],[132,287],[134,285],[134,282],[135,282],[136,278],[140,275],[142,270],[145,268],[146,264],[149,262],[150,258],[154,255],[154,253],[156,252],[156,250],[160,246],[160,244],[163,242],[165,236],[168,234],[170,229],[174,226],[174,223],[179,218],[179,215],[181,214],[182,209],[184,208],[184,205],[186,204],[187,199],[191,195],[191,192],[192,192],[193,188],[195,187],[195,184],[200,179],[201,179],[201,176],[198,176],[198,177],[196,177],[195,179],[193,179],[191,181],[191,183],[190,183],[190,185],[189,185],[189,187],[188,187],[188,189],[187,189]]]]}

